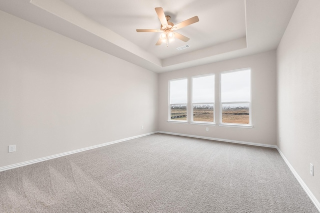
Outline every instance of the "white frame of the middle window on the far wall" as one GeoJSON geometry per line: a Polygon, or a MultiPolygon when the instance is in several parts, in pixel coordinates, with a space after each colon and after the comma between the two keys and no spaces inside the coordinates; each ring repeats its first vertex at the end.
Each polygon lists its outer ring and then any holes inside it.
{"type": "Polygon", "coordinates": [[[214,81],[213,81],[213,85],[214,85],[214,99],[215,99],[215,74],[214,73],[210,73],[210,74],[205,74],[205,75],[196,75],[196,76],[191,76],[191,89],[190,89],[190,118],[191,118],[191,121],[190,121],[190,124],[199,124],[199,125],[215,125],[215,102],[213,100],[213,102],[193,102],[193,98],[192,98],[192,93],[193,93],[193,79],[194,78],[199,78],[199,77],[206,77],[206,76],[213,76],[214,77],[214,81]],[[193,105],[195,104],[212,104],[213,105],[213,121],[212,122],[208,122],[208,121],[193,121],[193,105]]]}

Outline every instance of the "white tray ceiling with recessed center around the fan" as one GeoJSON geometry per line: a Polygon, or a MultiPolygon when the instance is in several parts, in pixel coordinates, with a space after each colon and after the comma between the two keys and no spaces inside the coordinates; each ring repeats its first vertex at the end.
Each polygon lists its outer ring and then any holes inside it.
{"type": "Polygon", "coordinates": [[[0,0],[0,10],[154,72],[276,49],[298,0],[0,0]],[[156,46],[162,7],[189,37],[156,46]],[[188,44],[190,47],[177,50],[188,44]]]}

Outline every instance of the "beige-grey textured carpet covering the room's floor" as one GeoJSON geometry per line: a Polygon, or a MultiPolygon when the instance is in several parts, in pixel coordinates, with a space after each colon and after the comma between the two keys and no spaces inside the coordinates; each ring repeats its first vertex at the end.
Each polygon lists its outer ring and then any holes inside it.
{"type": "Polygon", "coordinates": [[[154,134],[0,172],[2,213],[318,213],[275,149],[154,134]]]}

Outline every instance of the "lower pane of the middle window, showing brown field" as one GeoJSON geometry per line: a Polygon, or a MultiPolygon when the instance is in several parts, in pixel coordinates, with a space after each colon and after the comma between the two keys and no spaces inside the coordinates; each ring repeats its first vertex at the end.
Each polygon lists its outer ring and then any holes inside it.
{"type": "Polygon", "coordinates": [[[213,104],[193,104],[193,121],[213,122],[213,104]]]}

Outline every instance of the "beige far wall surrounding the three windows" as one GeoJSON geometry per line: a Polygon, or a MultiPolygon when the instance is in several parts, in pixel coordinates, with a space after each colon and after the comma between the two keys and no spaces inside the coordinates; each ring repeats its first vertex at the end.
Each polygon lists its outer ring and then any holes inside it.
{"type": "MultiPolygon", "coordinates": [[[[234,140],[241,142],[275,145],[276,143],[276,55],[275,51],[251,56],[221,61],[198,67],[166,72],[159,74],[159,131],[202,137],[234,140]],[[252,84],[252,129],[203,126],[194,124],[168,123],[168,80],[202,75],[215,74],[215,90],[219,91],[219,73],[222,71],[241,68],[251,68],[252,84]],[[209,131],[205,128],[209,127],[209,131]]],[[[189,85],[190,86],[190,85],[189,85]]],[[[218,93],[215,93],[217,107],[215,116],[218,122],[219,105],[218,93]]]]}

